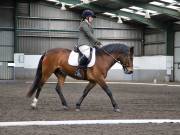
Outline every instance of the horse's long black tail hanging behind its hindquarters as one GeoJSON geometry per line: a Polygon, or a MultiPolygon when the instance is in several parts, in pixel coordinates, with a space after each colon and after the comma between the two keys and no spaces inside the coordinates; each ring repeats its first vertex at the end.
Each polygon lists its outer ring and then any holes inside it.
{"type": "Polygon", "coordinates": [[[34,94],[36,89],[38,87],[40,87],[40,85],[41,85],[40,82],[41,82],[41,78],[42,78],[42,61],[45,57],[45,54],[46,53],[44,53],[39,60],[38,68],[36,70],[35,79],[34,79],[34,82],[33,82],[32,86],[30,87],[30,89],[27,93],[27,97],[32,97],[32,95],[34,94]]]}

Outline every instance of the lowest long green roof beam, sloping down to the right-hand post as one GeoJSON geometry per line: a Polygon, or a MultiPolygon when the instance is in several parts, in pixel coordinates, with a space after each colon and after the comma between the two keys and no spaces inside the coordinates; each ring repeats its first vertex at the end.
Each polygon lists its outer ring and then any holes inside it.
{"type": "MultiPolygon", "coordinates": [[[[75,0],[60,0],[60,2],[65,2],[65,3],[68,3],[68,4],[79,4],[77,1],[75,0]]],[[[109,13],[113,13],[113,14],[116,14],[116,15],[119,15],[119,16],[126,16],[126,17],[129,17],[137,22],[141,22],[143,24],[146,24],[152,28],[160,28],[160,29],[164,29],[166,28],[166,26],[163,24],[163,23],[160,23],[160,22],[157,22],[157,21],[154,21],[152,19],[146,19],[144,18],[144,16],[141,16],[141,15],[137,15],[137,14],[134,14],[134,13],[129,13],[129,12],[125,12],[125,11],[121,11],[121,10],[112,10],[112,9],[107,9],[107,8],[104,8],[104,7],[100,7],[98,5],[95,5],[93,3],[90,3],[90,4],[80,4],[80,5],[77,5],[75,8],[80,8],[80,9],[91,9],[95,12],[109,12],[109,13]]]]}

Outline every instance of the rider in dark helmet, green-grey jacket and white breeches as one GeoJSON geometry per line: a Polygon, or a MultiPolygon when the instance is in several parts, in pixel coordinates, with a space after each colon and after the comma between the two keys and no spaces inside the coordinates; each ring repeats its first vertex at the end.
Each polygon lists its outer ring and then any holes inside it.
{"type": "Polygon", "coordinates": [[[101,43],[94,37],[92,22],[96,18],[92,10],[84,10],[82,13],[82,20],[79,26],[79,38],[77,50],[79,51],[80,59],[79,66],[75,72],[75,76],[82,78],[81,69],[86,68],[90,57],[90,50],[93,47],[100,47],[101,43]]]}

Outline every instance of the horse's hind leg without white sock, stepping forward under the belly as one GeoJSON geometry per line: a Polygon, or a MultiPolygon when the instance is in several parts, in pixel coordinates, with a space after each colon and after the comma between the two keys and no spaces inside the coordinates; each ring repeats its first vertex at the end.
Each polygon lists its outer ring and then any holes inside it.
{"type": "Polygon", "coordinates": [[[56,92],[58,93],[58,95],[61,99],[64,110],[68,110],[68,105],[67,105],[66,99],[64,98],[64,95],[63,95],[62,90],[61,90],[63,85],[64,85],[64,81],[66,79],[66,76],[61,74],[61,72],[59,72],[59,71],[55,71],[55,75],[58,78],[58,83],[56,85],[56,92]]]}

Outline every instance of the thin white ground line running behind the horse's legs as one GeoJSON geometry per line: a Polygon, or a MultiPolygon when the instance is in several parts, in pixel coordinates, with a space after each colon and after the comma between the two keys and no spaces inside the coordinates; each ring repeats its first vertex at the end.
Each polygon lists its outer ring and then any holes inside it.
{"type": "MultiPolygon", "coordinates": [[[[33,83],[32,81],[27,81],[26,83],[33,83]]],[[[54,84],[57,82],[46,82],[48,84],[54,84]]],[[[87,84],[87,81],[82,82],[65,82],[67,84],[87,84]]],[[[136,83],[136,82],[106,82],[107,84],[130,84],[130,85],[149,85],[149,86],[168,86],[168,87],[180,87],[180,85],[176,84],[166,84],[166,83],[136,83]]]]}

